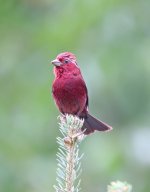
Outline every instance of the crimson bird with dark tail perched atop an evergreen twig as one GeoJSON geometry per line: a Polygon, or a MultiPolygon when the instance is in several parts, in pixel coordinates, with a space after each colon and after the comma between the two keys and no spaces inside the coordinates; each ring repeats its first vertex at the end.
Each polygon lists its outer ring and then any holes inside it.
{"type": "Polygon", "coordinates": [[[109,131],[112,128],[96,119],[88,112],[88,92],[74,54],[65,52],[52,61],[55,79],[52,93],[62,114],[77,115],[84,118],[82,129],[88,135],[95,130],[109,131]]]}

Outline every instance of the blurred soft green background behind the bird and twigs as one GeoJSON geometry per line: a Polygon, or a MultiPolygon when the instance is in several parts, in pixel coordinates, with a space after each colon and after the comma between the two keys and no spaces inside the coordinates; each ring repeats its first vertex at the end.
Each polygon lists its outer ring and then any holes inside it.
{"type": "Polygon", "coordinates": [[[81,144],[82,190],[150,191],[150,1],[0,0],[0,191],[52,192],[59,114],[50,60],[76,54],[90,111],[114,127],[81,144]]]}

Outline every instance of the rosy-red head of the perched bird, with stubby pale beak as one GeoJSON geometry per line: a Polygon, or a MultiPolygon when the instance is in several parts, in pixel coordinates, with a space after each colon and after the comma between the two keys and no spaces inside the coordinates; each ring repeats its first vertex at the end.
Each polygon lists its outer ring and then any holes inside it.
{"type": "Polygon", "coordinates": [[[63,67],[67,64],[77,65],[75,55],[70,52],[60,53],[56,59],[52,61],[52,64],[56,67],[63,67]]]}

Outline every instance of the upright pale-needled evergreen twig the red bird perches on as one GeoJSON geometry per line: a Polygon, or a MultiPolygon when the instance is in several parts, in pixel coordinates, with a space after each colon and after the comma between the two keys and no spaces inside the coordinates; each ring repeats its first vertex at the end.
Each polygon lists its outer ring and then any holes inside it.
{"type": "Polygon", "coordinates": [[[56,192],[78,192],[80,190],[81,158],[79,143],[84,138],[81,130],[84,120],[72,115],[61,115],[59,130],[62,137],[57,138],[57,186],[56,192]]]}

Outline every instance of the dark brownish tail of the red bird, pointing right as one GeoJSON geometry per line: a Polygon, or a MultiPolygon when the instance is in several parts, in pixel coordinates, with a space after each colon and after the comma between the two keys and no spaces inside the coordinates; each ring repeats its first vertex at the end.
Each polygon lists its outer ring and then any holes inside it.
{"type": "Polygon", "coordinates": [[[87,114],[87,116],[84,119],[83,128],[85,135],[88,135],[95,130],[97,131],[110,131],[112,130],[112,127],[107,125],[106,123],[96,119],[90,114],[87,114]]]}

